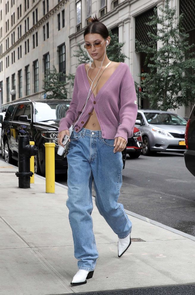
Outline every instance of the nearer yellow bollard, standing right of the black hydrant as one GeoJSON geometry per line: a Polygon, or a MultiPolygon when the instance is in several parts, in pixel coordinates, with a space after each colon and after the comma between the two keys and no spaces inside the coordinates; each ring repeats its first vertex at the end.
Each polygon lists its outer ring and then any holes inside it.
{"type": "Polygon", "coordinates": [[[46,193],[55,192],[55,143],[45,143],[45,185],[46,193]]]}

